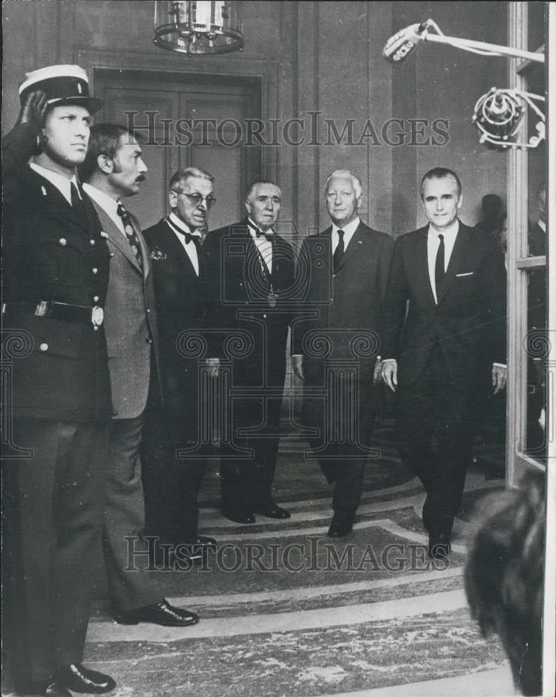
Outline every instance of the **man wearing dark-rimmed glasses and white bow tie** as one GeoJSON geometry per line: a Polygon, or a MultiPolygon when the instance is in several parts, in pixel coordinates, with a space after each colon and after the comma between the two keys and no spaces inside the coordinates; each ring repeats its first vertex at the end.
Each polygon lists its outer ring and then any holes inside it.
{"type": "Polygon", "coordinates": [[[170,214],[145,231],[155,284],[164,406],[148,408],[141,446],[146,531],[169,549],[179,546],[201,560],[215,539],[198,534],[197,497],[206,459],[179,457],[194,450],[199,415],[197,358],[180,352],[178,337],[199,330],[206,314],[206,268],[202,233],[215,204],[214,178],[196,167],[178,169],[170,179],[170,214]]]}

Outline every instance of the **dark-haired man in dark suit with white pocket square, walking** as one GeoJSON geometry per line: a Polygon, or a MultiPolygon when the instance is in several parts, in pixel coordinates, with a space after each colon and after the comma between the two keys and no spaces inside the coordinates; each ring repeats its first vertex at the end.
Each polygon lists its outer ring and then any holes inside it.
{"type": "Polygon", "coordinates": [[[504,264],[493,238],[458,220],[461,183],[449,169],[421,183],[428,225],[396,240],[389,275],[382,376],[398,393],[399,450],[423,482],[428,553],[450,551],[471,457],[481,367],[506,381],[504,264]],[[438,452],[433,436],[438,436],[438,452]]]}

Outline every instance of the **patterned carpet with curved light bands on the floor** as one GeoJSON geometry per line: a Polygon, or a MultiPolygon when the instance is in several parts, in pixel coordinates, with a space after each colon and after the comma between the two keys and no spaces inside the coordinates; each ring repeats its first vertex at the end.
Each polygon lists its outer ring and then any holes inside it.
{"type": "Polygon", "coordinates": [[[122,627],[95,604],[86,661],[117,697],[364,697],[514,694],[504,652],[470,619],[462,570],[472,509],[504,486],[500,445],[476,448],[449,562],[428,560],[424,493],[377,432],[353,534],[326,537],[331,487],[298,436],[281,439],[275,498],[287,521],[238,526],[217,509],[217,463],[201,493],[202,565],[153,570],[171,602],[201,615],[187,629],[122,627]]]}

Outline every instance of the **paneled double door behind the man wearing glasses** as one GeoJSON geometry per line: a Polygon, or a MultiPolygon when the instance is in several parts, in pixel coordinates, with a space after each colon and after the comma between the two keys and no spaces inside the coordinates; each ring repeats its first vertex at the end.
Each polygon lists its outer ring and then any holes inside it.
{"type": "Polygon", "coordinates": [[[166,215],[168,184],[180,167],[215,176],[209,229],[244,217],[245,190],[261,176],[261,149],[248,132],[261,115],[257,79],[102,69],[94,89],[105,102],[95,123],[132,126],[143,139],[147,181],[126,201],[143,229],[166,215]]]}

